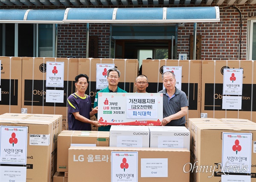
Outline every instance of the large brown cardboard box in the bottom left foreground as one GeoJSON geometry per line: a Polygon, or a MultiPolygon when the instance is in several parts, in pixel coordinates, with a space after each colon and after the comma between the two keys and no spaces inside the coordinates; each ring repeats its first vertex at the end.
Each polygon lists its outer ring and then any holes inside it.
{"type": "MultiPolygon", "coordinates": [[[[11,114],[10,114],[11,115],[11,114]]],[[[0,116],[0,125],[6,126],[27,126],[27,182],[52,182],[52,176],[57,168],[57,137],[61,128],[61,115],[49,117],[34,117],[33,114],[18,114],[18,116],[0,116]],[[23,117],[22,117],[23,115],[23,117]],[[56,117],[59,117],[56,119],[56,117]],[[36,140],[34,135],[49,137],[48,145],[42,145],[40,141],[30,145],[30,140],[36,140]]]]}

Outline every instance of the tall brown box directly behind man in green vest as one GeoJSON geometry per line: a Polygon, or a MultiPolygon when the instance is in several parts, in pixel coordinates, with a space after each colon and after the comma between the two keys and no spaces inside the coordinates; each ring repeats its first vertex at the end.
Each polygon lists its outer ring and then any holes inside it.
{"type": "Polygon", "coordinates": [[[95,58],[80,58],[79,59],[79,74],[87,74],[89,77],[89,85],[87,95],[90,95],[92,106],[94,104],[96,90],[96,66],[97,64],[115,64],[115,67],[121,72],[119,80],[119,88],[127,92],[136,92],[135,78],[138,76],[138,60],[126,59],[95,59],[95,58]]]}

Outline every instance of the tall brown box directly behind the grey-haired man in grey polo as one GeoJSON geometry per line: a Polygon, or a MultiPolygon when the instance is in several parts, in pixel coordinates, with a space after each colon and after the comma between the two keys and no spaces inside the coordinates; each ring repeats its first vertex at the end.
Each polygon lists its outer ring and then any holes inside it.
{"type": "Polygon", "coordinates": [[[163,66],[181,66],[181,90],[186,93],[189,102],[188,118],[200,117],[201,113],[201,60],[142,60],[142,74],[148,77],[149,93],[163,90],[163,66]]]}

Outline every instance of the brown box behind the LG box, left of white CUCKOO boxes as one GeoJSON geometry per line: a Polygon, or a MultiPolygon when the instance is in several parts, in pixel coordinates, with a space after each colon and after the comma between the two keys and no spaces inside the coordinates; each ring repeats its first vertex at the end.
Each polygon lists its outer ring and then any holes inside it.
{"type": "Polygon", "coordinates": [[[58,135],[57,171],[68,171],[68,149],[70,145],[94,144],[109,146],[108,131],[62,131],[58,135]]]}

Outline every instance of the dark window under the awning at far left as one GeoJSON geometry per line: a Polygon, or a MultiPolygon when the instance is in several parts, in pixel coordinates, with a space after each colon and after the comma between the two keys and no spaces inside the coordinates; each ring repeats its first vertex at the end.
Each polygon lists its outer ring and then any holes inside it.
{"type": "Polygon", "coordinates": [[[55,57],[56,24],[0,24],[0,55],[55,57]]]}

